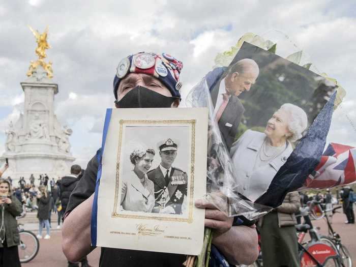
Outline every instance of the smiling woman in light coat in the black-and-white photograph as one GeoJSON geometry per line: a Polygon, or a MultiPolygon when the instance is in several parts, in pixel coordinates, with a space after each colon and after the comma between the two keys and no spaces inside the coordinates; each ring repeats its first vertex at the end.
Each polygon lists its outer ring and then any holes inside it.
{"type": "Polygon", "coordinates": [[[136,147],[130,154],[134,168],[122,177],[121,210],[150,213],[155,205],[154,184],[147,177],[155,156],[153,149],[136,147]]]}

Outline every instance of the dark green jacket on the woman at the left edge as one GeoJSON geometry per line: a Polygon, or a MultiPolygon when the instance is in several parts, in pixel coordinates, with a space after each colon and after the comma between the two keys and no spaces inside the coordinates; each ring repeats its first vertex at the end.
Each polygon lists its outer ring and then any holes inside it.
{"type": "MultiPolygon", "coordinates": [[[[16,197],[10,197],[12,200],[11,204],[4,204],[4,223],[5,223],[5,238],[8,247],[17,246],[20,244],[20,236],[17,229],[16,216],[19,216],[22,212],[21,202],[18,201],[16,197]]],[[[2,225],[2,207],[0,209],[0,225],[2,225]]],[[[4,237],[4,232],[0,233],[0,236],[4,237]]],[[[0,248],[3,244],[0,242],[0,248]]]]}

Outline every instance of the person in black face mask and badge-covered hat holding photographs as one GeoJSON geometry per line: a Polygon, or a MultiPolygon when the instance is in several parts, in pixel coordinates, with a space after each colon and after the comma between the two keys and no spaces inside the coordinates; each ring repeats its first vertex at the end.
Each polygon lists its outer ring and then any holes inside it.
{"type": "MultiPolygon", "coordinates": [[[[182,68],[182,62],[165,53],[137,53],[125,57],[114,77],[116,107],[177,107],[181,100],[179,75],[182,68]]],[[[93,249],[91,219],[98,168],[98,160],[94,156],[67,206],[62,249],[71,261],[81,259],[93,249]]],[[[205,209],[205,227],[215,230],[212,243],[229,262],[251,264],[257,258],[257,232],[254,228],[233,225],[234,218],[227,217],[206,199],[197,200],[195,205],[205,209]]],[[[103,247],[99,266],[178,267],[185,260],[185,255],[180,254],[103,247]]]]}

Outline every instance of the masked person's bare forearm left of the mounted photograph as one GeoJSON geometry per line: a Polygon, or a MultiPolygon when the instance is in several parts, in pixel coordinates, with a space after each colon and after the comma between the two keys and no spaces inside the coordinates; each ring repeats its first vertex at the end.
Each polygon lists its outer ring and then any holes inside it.
{"type": "Polygon", "coordinates": [[[91,252],[91,220],[94,194],[67,215],[62,228],[62,250],[69,261],[91,252]]]}

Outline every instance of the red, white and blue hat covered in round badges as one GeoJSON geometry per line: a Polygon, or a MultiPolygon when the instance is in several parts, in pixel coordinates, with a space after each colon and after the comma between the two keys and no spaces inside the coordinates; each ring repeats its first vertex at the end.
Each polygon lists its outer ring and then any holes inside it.
{"type": "Polygon", "coordinates": [[[130,73],[144,73],[159,79],[172,94],[181,99],[182,82],[179,80],[183,63],[167,53],[139,52],[123,58],[118,63],[114,77],[114,96],[117,100],[117,88],[122,79],[130,73]]]}

